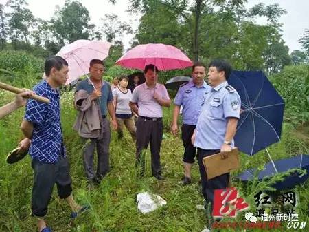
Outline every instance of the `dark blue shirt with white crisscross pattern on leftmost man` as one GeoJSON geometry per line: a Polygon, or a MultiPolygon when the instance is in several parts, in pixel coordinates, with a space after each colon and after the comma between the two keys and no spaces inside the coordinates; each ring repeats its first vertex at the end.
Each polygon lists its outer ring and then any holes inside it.
{"type": "Polygon", "coordinates": [[[24,120],[33,125],[30,155],[40,162],[54,163],[65,156],[60,123],[60,94],[47,81],[38,83],[33,91],[48,98],[50,103],[30,99],[27,102],[24,120]]]}

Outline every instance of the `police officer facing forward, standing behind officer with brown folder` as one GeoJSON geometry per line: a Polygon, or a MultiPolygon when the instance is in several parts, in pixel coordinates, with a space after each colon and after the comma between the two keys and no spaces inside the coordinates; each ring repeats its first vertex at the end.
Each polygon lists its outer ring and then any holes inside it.
{"type": "Polygon", "coordinates": [[[181,106],[183,107],[183,125],[181,127],[181,138],[185,152],[183,154],[183,167],[185,176],[182,178],[183,184],[190,184],[191,169],[196,156],[196,148],[191,143],[191,137],[196,128],[198,115],[201,112],[201,107],[205,101],[205,96],[210,91],[211,87],[204,81],[206,76],[206,66],[201,62],[196,62],[192,66],[192,80],[181,85],[176,98],[174,99],[174,113],[172,123],[172,134],[176,136],[179,127],[177,120],[181,106]]]}

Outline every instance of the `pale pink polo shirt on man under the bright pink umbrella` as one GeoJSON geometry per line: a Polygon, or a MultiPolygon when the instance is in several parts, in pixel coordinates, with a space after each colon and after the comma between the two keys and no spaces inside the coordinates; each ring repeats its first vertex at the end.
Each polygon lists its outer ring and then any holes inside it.
{"type": "Polygon", "coordinates": [[[168,90],[166,90],[164,85],[159,83],[150,89],[145,82],[133,90],[130,101],[139,105],[139,116],[162,118],[162,106],[155,100],[155,98],[153,98],[155,92],[159,94],[161,98],[170,100],[168,90]]]}

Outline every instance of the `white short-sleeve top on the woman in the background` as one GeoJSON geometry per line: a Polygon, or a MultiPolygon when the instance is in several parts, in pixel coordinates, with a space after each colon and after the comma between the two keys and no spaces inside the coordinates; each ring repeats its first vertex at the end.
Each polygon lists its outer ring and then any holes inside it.
{"type": "Polygon", "coordinates": [[[127,90],[124,93],[119,88],[113,89],[113,98],[116,99],[116,114],[132,114],[129,106],[132,93],[130,89],[127,90]]]}

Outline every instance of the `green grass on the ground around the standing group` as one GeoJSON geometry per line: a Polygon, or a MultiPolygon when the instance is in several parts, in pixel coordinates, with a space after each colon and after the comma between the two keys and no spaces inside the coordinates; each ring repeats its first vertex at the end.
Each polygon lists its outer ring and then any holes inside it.
{"type": "MultiPolygon", "coordinates": [[[[0,105],[12,100],[12,94],[0,90],[0,105]]],[[[56,187],[46,220],[53,231],[67,232],[116,232],[116,231],[201,231],[205,226],[205,213],[196,209],[196,204],[203,204],[201,187],[198,182],[198,167],[193,167],[193,184],[183,187],[179,182],[183,176],[181,138],[174,138],[168,133],[172,118],[172,108],[164,111],[165,139],[161,147],[163,176],[167,180],[158,182],[151,176],[150,151],[146,151],[146,176],[137,178],[135,170],[135,146],[130,135],[125,131],[122,140],[112,132],[111,172],[104,178],[100,187],[87,190],[82,167],[82,142],[72,125],[76,118],[73,109],[73,93],[62,94],[62,127],[65,136],[67,155],[71,164],[73,194],[82,204],[90,204],[89,213],[84,213],[76,220],[69,220],[70,210],[63,200],[59,200],[56,187]],[[157,211],[143,215],[137,209],[136,196],[141,191],[159,194],[168,204],[157,211]]],[[[30,157],[27,156],[15,165],[7,165],[5,156],[16,147],[23,138],[19,125],[23,118],[23,109],[0,121],[0,231],[30,232],[36,231],[36,220],[30,215],[33,174],[30,157]]],[[[294,129],[284,124],[282,141],[269,147],[274,160],[296,154],[308,154],[308,144],[295,136],[294,129]]],[[[261,167],[268,162],[264,151],[252,157],[241,154],[241,169],[261,167]]],[[[236,173],[233,173],[235,176],[236,173]]],[[[250,182],[245,185],[233,179],[246,201],[253,205],[254,193],[269,188],[271,182],[250,182]]],[[[309,182],[293,189],[299,196],[297,213],[303,221],[308,221],[309,182]]],[[[254,207],[250,211],[255,212],[254,207]]],[[[240,213],[237,220],[244,221],[240,213]]],[[[308,229],[308,225],[306,226],[308,229]]],[[[222,230],[233,231],[233,230],[222,230]]],[[[259,230],[255,230],[259,231],[259,230]]],[[[261,231],[261,230],[260,230],[261,231]]],[[[276,231],[276,230],[272,230],[276,231]]],[[[279,230],[277,230],[279,231],[279,230]]],[[[281,230],[280,230],[281,231],[281,230]]],[[[287,231],[284,229],[283,231],[287,231]]],[[[303,230],[305,231],[305,230],[303,230]]]]}

